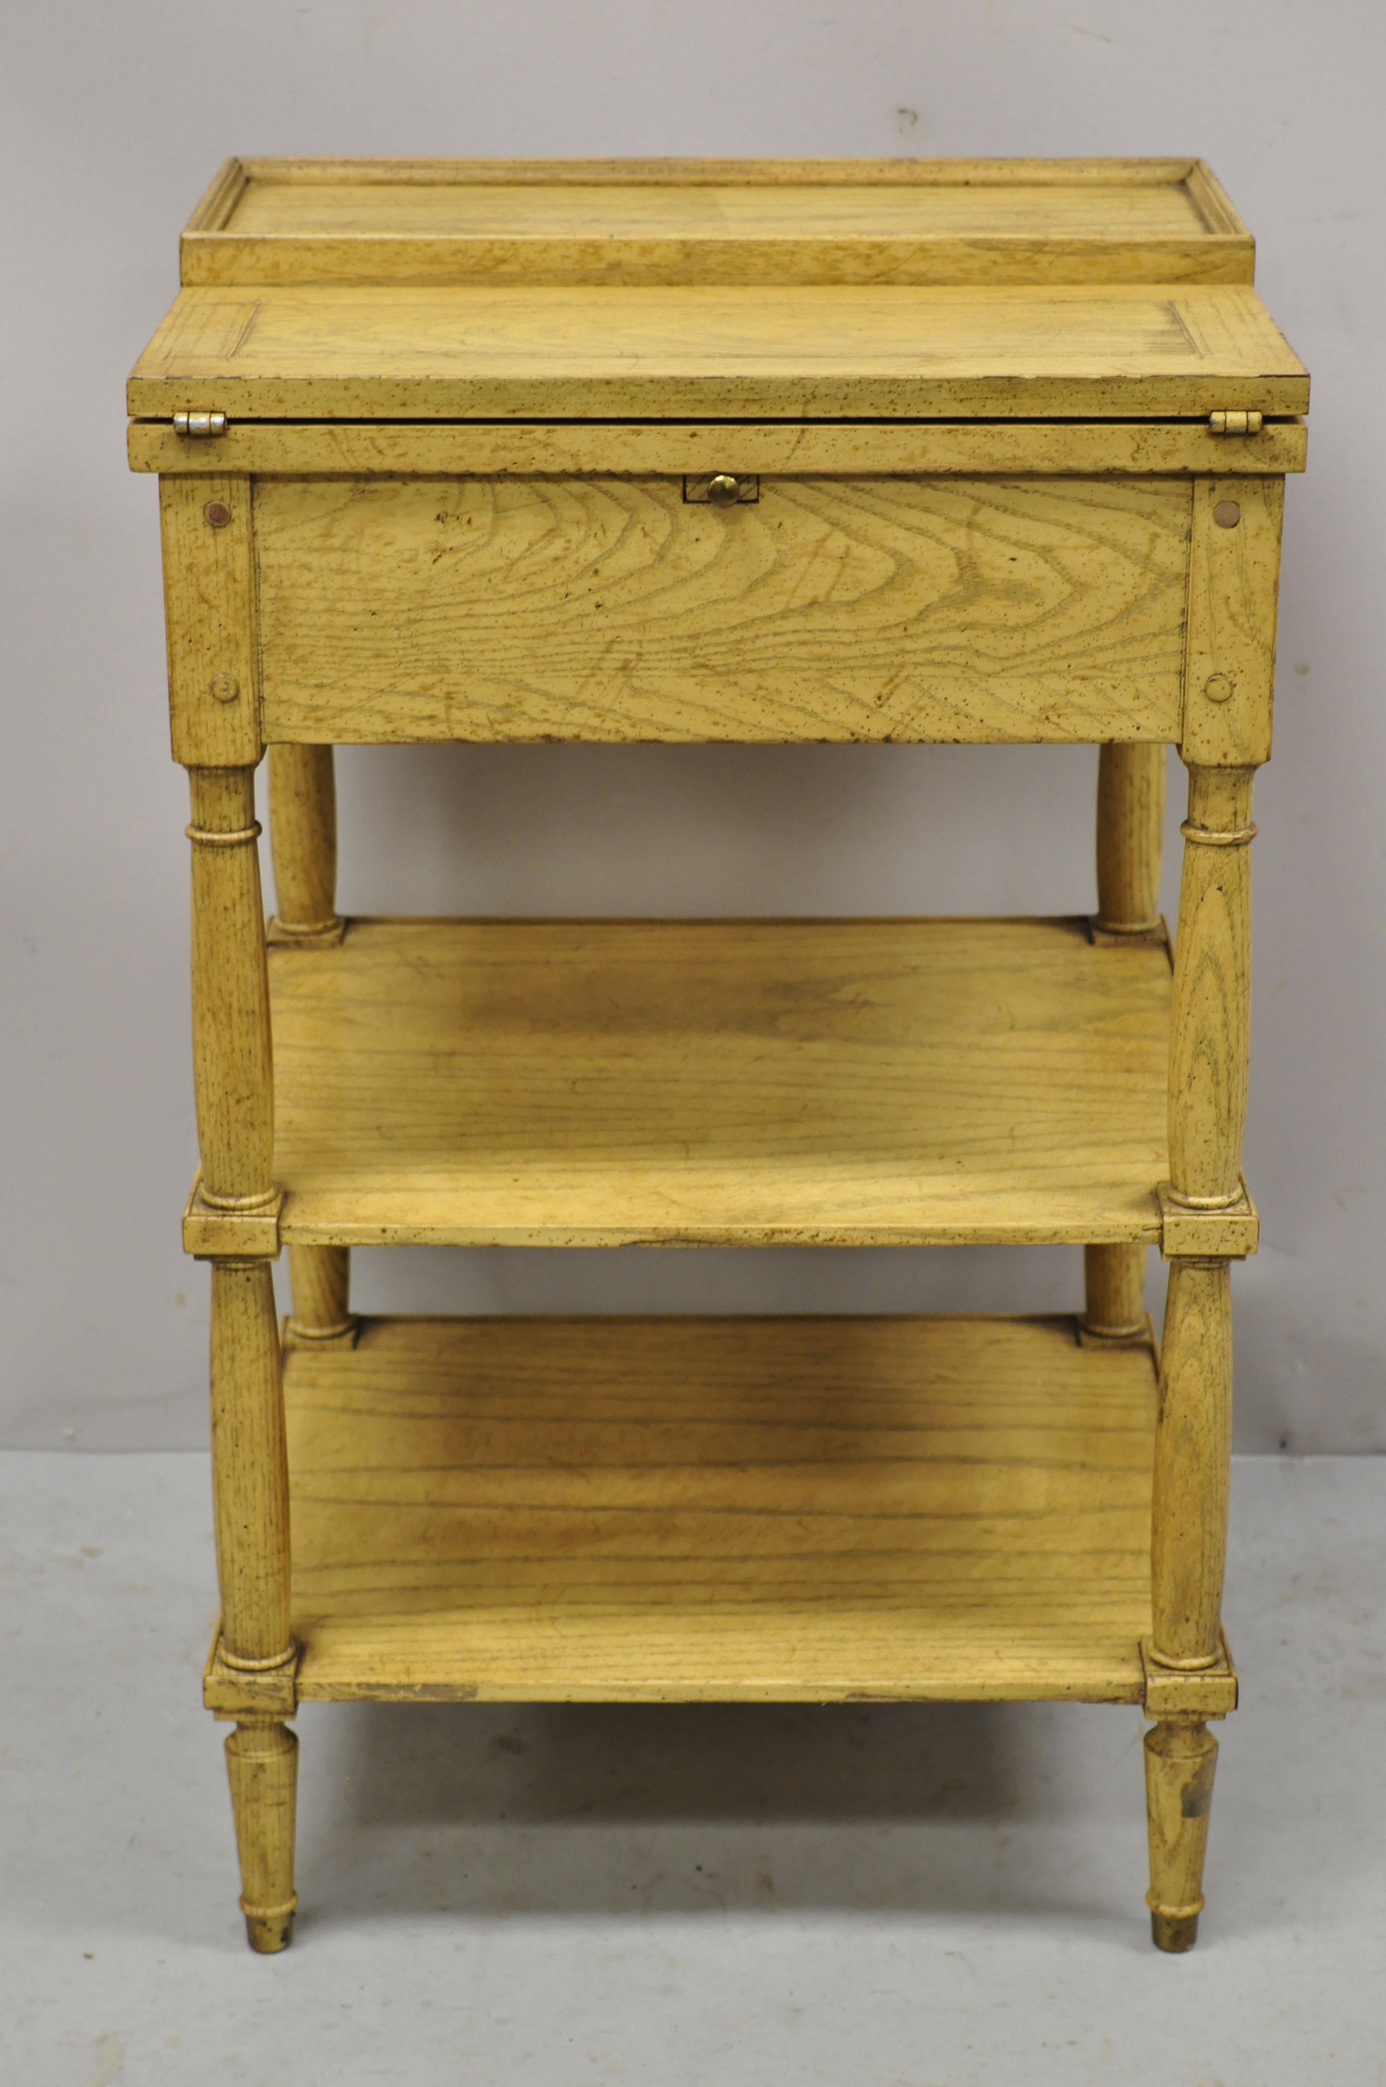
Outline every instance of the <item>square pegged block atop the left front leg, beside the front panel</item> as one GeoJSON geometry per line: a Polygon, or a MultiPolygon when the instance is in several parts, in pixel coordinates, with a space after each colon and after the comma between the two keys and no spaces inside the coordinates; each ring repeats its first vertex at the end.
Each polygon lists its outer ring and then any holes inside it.
{"type": "Polygon", "coordinates": [[[159,518],[173,760],[255,768],[263,743],[250,478],[161,478],[159,518]]]}

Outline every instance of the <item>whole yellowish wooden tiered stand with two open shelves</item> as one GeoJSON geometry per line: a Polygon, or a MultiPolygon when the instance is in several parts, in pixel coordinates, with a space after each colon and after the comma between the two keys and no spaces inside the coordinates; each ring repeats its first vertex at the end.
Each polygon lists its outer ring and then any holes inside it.
{"type": "Polygon", "coordinates": [[[221,169],[129,457],[253,1947],[305,1699],[1136,1703],[1154,1941],[1194,1941],[1307,399],[1202,163],[221,169]],[[342,920],[332,747],[451,739],[1094,743],[1096,914],[342,920]],[[420,1242],[1071,1242],[1085,1306],[359,1319],[351,1248],[420,1242]]]}

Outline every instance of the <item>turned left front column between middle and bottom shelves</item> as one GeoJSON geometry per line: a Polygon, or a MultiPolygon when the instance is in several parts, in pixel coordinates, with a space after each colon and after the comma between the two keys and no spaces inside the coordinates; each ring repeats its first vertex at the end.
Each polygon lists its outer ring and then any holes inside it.
{"type": "Polygon", "coordinates": [[[250,1672],[290,1665],[288,1457],[267,1261],[213,1263],[211,1484],[221,1659],[250,1672]]]}

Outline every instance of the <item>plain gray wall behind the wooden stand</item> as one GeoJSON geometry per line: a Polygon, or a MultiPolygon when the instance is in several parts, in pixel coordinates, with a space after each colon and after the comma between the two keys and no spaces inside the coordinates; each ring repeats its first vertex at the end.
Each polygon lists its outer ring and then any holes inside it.
{"type": "MultiPolygon", "coordinates": [[[[1259,791],[1244,1448],[1386,1446],[1380,8],[8,0],[0,1440],[202,1440],[184,776],[121,380],[228,152],[1202,152],[1315,374],[1259,791]]],[[[357,910],[1085,910],[1090,749],[372,749],[357,910]]],[[[1179,818],[1171,778],[1171,835],[1179,818]]],[[[359,1254],[367,1306],[1069,1306],[1077,1254],[359,1254]]]]}

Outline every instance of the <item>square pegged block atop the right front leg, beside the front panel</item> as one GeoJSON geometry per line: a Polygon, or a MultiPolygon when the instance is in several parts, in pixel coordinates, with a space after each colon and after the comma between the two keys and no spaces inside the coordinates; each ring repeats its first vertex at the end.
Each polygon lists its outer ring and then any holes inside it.
{"type": "Polygon", "coordinates": [[[1284,478],[1194,480],[1179,741],[1190,766],[1271,755],[1284,505],[1284,478]]]}

